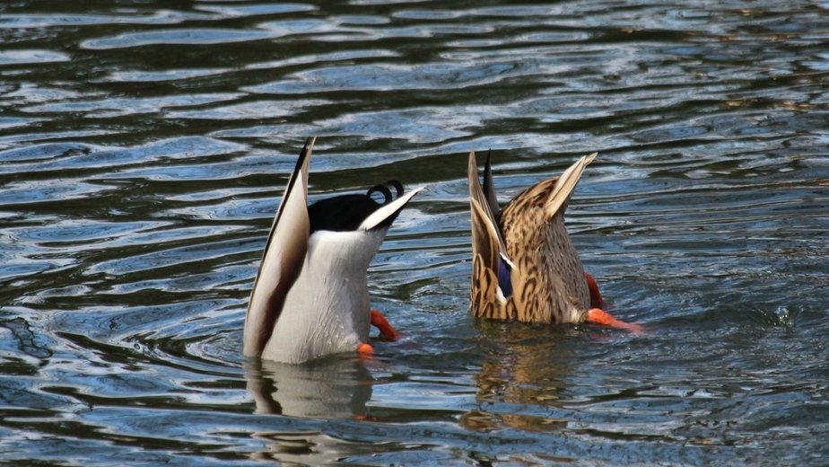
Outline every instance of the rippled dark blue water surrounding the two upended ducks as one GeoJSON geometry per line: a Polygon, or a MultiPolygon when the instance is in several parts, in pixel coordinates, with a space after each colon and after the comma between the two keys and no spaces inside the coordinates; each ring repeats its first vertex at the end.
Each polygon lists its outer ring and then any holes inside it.
{"type": "Polygon", "coordinates": [[[829,4],[0,6],[0,460],[827,464],[829,4]],[[377,357],[240,357],[306,136],[312,198],[430,188],[377,357]],[[647,331],[475,322],[466,156],[569,210],[647,331]]]}

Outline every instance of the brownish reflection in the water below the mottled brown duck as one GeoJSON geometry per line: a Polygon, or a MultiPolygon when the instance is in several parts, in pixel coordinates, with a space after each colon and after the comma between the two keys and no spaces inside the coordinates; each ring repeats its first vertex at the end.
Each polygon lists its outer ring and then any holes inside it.
{"type": "Polygon", "coordinates": [[[485,355],[475,377],[478,407],[462,415],[460,425],[483,431],[565,427],[566,410],[559,401],[570,369],[570,353],[563,345],[569,330],[515,322],[476,326],[485,355]]]}

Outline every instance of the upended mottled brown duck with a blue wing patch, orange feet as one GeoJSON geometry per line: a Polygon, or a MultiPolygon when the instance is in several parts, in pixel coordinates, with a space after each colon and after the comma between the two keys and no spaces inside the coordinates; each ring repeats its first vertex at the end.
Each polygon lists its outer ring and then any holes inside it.
{"type": "Polygon", "coordinates": [[[492,151],[479,180],[475,151],[468,162],[472,217],[469,313],[477,318],[538,323],[595,323],[641,332],[607,313],[596,280],[584,271],[564,225],[582,172],[596,153],[561,176],[538,181],[503,207],[493,184],[492,151]]]}

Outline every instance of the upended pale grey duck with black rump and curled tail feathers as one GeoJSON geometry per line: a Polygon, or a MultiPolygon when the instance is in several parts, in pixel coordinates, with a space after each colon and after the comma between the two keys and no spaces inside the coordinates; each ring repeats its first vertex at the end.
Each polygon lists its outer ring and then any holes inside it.
{"type": "Polygon", "coordinates": [[[371,356],[372,325],[380,337],[397,339],[371,309],[367,270],[389,226],[423,188],[404,193],[399,181],[388,181],[309,205],[315,142],[302,147],[267,236],[245,315],[245,357],[301,364],[343,352],[371,356]]]}

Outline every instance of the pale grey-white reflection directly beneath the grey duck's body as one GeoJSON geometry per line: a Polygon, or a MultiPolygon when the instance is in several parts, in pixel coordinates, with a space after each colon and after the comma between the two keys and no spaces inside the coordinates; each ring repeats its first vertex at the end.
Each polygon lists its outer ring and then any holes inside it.
{"type": "Polygon", "coordinates": [[[329,357],[303,365],[250,360],[248,391],[257,413],[312,419],[363,419],[374,379],[362,362],[329,357]]]}

